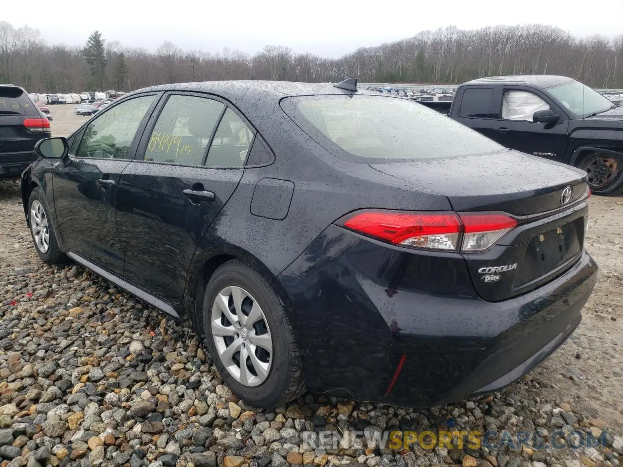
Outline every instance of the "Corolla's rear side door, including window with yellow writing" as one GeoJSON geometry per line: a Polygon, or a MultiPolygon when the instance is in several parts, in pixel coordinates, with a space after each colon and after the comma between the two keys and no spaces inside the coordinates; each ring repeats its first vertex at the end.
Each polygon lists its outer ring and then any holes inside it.
{"type": "Polygon", "coordinates": [[[169,303],[182,300],[196,247],[238,186],[253,139],[224,101],[166,96],[117,192],[126,280],[169,303]]]}

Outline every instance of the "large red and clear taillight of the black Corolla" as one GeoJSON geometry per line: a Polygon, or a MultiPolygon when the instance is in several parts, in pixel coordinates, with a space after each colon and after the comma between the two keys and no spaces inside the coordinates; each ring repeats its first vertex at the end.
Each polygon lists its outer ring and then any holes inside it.
{"type": "Polygon", "coordinates": [[[446,252],[483,252],[514,229],[517,221],[498,212],[398,212],[360,210],[341,225],[403,247],[446,252]]]}

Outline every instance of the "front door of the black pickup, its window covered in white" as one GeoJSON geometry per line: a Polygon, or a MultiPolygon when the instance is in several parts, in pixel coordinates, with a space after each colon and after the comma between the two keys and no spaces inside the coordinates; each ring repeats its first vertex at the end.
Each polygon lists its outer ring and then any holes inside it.
{"type": "Polygon", "coordinates": [[[562,161],[568,141],[569,119],[561,108],[536,90],[502,88],[502,106],[497,110],[493,138],[506,148],[562,161]],[[552,110],[560,115],[556,123],[536,123],[533,114],[552,110]]]}

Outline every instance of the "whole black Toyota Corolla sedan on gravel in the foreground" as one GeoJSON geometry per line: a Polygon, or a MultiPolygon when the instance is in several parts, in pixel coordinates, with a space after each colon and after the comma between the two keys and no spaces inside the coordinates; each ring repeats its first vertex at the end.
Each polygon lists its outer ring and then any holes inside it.
{"type": "Polygon", "coordinates": [[[45,139],[22,176],[39,256],[189,318],[259,407],[509,384],[594,286],[586,173],[353,81],[151,87],[45,139]]]}

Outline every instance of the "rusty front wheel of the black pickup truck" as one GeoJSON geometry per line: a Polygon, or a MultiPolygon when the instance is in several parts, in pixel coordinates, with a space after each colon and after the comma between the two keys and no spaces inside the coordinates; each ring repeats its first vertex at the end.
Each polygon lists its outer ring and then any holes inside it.
{"type": "Polygon", "coordinates": [[[616,196],[623,192],[623,156],[587,153],[578,167],[588,174],[592,194],[616,196]]]}

